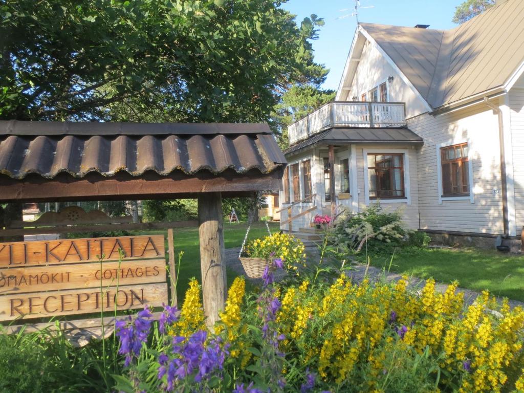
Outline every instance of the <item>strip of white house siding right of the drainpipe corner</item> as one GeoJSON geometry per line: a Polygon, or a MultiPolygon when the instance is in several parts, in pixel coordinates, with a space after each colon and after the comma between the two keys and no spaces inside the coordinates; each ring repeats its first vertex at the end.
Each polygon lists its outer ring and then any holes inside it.
{"type": "Polygon", "coordinates": [[[509,92],[517,235],[524,225],[524,89],[509,92]]]}

